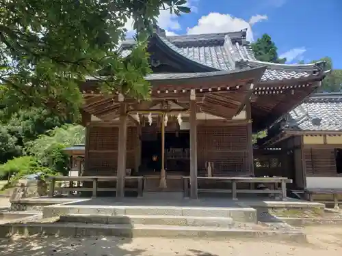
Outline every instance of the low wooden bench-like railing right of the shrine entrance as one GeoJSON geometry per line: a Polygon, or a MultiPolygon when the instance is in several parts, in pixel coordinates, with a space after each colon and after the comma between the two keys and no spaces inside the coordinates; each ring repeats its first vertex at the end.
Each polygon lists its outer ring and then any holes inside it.
{"type": "MultiPolygon", "coordinates": [[[[213,180],[220,182],[227,182],[232,184],[232,189],[198,189],[198,192],[207,193],[232,193],[233,200],[237,200],[237,193],[250,193],[250,194],[280,194],[282,200],[286,200],[286,184],[292,183],[291,179],[287,177],[197,177],[197,180],[213,180]],[[237,183],[268,183],[268,184],[281,184],[280,190],[256,190],[256,189],[237,189],[237,183]]],[[[190,177],[183,177],[184,197],[189,197],[190,177]]]]}

